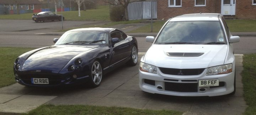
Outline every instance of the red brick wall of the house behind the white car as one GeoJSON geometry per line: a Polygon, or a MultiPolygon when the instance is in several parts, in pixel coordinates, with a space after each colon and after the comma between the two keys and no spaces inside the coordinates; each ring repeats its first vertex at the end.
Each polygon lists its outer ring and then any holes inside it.
{"type": "MultiPolygon", "coordinates": [[[[190,13],[221,13],[221,0],[206,0],[206,6],[194,6],[195,0],[182,0],[182,7],[169,7],[168,0],[157,0],[158,19],[168,19],[190,13]]],[[[252,0],[236,0],[234,18],[256,18],[252,0]]]]}

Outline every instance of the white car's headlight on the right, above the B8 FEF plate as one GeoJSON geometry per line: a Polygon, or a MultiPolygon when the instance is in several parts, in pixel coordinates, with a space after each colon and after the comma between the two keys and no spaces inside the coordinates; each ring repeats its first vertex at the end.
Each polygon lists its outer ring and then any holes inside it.
{"type": "Polygon", "coordinates": [[[218,75],[232,72],[232,63],[220,66],[214,66],[207,69],[206,75],[218,75]]]}

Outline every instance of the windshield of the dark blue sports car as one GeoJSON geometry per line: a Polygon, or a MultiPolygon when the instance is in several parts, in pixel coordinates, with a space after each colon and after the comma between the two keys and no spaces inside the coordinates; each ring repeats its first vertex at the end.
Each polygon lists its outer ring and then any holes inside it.
{"type": "Polygon", "coordinates": [[[66,32],[55,45],[63,44],[109,44],[108,34],[101,31],[66,32]]]}

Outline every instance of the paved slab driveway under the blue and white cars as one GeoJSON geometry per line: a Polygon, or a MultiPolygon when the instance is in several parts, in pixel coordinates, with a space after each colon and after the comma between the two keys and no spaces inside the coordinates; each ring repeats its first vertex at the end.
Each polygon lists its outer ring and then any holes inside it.
{"type": "Polygon", "coordinates": [[[246,108],[240,75],[242,55],[236,55],[236,93],[233,96],[177,97],[146,93],[139,89],[138,66],[123,66],[105,75],[97,88],[34,88],[20,84],[2,87],[0,112],[25,113],[41,104],[166,109],[183,111],[184,115],[240,115],[246,108]]]}

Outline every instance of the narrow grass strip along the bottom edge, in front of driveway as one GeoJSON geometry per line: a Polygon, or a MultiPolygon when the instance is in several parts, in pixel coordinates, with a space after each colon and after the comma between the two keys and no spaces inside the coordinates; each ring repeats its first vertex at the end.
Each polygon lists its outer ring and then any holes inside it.
{"type": "Polygon", "coordinates": [[[41,105],[28,115],[182,115],[182,112],[91,105],[41,105]]]}

